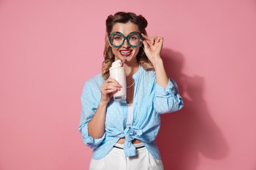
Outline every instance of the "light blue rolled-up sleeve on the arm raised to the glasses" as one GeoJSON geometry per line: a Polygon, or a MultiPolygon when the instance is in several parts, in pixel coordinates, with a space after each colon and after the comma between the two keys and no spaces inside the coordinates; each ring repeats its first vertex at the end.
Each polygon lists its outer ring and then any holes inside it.
{"type": "Polygon", "coordinates": [[[167,88],[155,85],[154,109],[159,114],[175,112],[184,106],[179,88],[173,79],[169,79],[167,88]]]}

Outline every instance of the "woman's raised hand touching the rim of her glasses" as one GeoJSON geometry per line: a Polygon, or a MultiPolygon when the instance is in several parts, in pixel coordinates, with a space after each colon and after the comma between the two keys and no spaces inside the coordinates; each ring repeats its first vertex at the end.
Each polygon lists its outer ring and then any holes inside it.
{"type": "Polygon", "coordinates": [[[161,58],[161,48],[163,47],[163,38],[162,37],[148,37],[142,34],[143,44],[144,44],[144,52],[148,59],[150,59],[151,63],[154,65],[156,59],[161,58]]]}

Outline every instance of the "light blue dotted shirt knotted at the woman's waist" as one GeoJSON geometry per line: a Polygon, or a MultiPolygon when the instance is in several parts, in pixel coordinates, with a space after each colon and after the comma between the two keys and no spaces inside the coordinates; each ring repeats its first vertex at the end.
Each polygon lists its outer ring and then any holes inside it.
{"type": "Polygon", "coordinates": [[[133,122],[126,126],[127,103],[114,101],[112,98],[106,109],[105,132],[100,139],[93,139],[88,133],[88,122],[93,118],[100,102],[100,85],[104,82],[101,74],[85,82],[81,95],[81,119],[79,131],[83,142],[93,148],[93,159],[104,158],[119,138],[125,137],[123,150],[125,156],[135,156],[133,139],[139,139],[150,154],[161,159],[156,136],[160,129],[160,114],[174,112],[183,107],[177,84],[174,80],[168,82],[167,88],[156,83],[154,71],[145,71],[140,66],[133,75],[135,80],[135,94],[133,97],[133,122]]]}

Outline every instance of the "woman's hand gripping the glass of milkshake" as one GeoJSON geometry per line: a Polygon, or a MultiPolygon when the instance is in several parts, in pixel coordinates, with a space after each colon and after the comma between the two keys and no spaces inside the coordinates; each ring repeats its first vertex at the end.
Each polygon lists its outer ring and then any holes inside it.
{"type": "Polygon", "coordinates": [[[108,78],[103,84],[100,86],[101,99],[100,102],[108,103],[110,99],[113,97],[114,92],[120,90],[122,86],[115,80],[114,78],[108,78]]]}

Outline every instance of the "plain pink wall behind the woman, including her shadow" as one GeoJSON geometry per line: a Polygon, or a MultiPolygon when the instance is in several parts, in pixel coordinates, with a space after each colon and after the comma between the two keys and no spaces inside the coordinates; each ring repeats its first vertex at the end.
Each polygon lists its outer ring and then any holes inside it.
{"type": "Polygon", "coordinates": [[[256,169],[256,1],[0,1],[0,169],[87,169],[80,95],[105,20],[142,14],[185,107],[161,116],[165,169],[256,169]]]}

